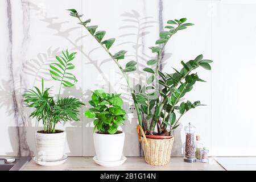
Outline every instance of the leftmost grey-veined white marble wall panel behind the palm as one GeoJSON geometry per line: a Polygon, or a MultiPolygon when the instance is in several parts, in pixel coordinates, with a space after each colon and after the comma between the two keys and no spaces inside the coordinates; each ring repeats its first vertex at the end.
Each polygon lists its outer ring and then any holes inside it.
{"type": "MultiPolygon", "coordinates": [[[[81,7],[81,1],[1,1],[1,34],[5,36],[1,43],[0,155],[35,153],[34,135],[42,125],[28,117],[31,110],[23,107],[20,95],[32,86],[40,86],[41,78],[51,87],[52,94],[58,93],[59,82],[51,81],[47,69],[63,49],[77,52],[81,49],[81,28],[69,26],[73,20],[67,20],[69,15],[65,11],[74,5],[81,7]]],[[[81,60],[79,52],[74,61],[79,82],[72,89],[61,88],[61,96],[82,98],[81,60]]],[[[57,128],[67,131],[65,152],[81,156],[82,122],[58,124],[57,128]]]]}

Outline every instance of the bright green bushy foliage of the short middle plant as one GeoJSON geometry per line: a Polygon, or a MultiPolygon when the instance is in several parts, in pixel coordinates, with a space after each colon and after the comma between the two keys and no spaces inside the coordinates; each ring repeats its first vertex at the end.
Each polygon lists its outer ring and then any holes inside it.
{"type": "Polygon", "coordinates": [[[122,109],[123,100],[121,94],[108,94],[103,90],[92,92],[92,100],[89,104],[93,106],[85,111],[85,116],[95,118],[94,130],[97,129],[101,134],[117,133],[118,125],[123,124],[126,118],[126,112],[122,109]]]}

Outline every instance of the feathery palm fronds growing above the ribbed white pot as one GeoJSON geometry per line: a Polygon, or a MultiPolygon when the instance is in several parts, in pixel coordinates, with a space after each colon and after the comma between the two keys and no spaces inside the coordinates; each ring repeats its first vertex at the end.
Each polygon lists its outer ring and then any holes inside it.
{"type": "Polygon", "coordinates": [[[73,97],[60,98],[61,87],[71,88],[77,82],[75,75],[68,71],[75,69],[71,61],[75,58],[76,52],[69,54],[68,50],[63,51],[63,56],[56,56],[57,63],[49,65],[49,72],[53,80],[60,82],[57,100],[49,94],[50,88],[44,88],[42,79],[42,89],[34,87],[23,94],[24,102],[27,107],[35,108],[30,117],[42,121],[44,133],[57,133],[55,130],[58,122],[79,121],[77,115],[79,108],[84,105],[79,99],[73,97]]]}

